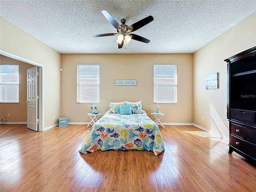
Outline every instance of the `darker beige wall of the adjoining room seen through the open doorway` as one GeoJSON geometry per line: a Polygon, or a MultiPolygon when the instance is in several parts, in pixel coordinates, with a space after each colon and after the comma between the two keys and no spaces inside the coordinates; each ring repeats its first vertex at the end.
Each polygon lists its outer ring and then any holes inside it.
{"type": "Polygon", "coordinates": [[[1,64],[19,64],[19,103],[1,103],[0,113],[4,118],[15,122],[27,122],[27,69],[34,67],[31,64],[18,61],[3,55],[0,55],[1,64]],[[11,114],[8,117],[8,113],[11,114]]]}

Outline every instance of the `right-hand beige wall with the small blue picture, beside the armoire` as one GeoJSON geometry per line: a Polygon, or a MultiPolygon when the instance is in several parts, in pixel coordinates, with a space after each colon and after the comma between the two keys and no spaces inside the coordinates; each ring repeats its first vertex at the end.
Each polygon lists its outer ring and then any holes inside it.
{"type": "Polygon", "coordinates": [[[252,14],[200,50],[194,53],[194,110],[193,122],[211,129],[210,119],[215,126],[218,120],[228,127],[227,63],[224,59],[256,46],[256,13],[252,14]],[[219,73],[220,88],[206,90],[205,76],[219,73]],[[210,103],[217,115],[210,116],[210,103]],[[205,118],[205,122],[202,118],[205,118]]]}

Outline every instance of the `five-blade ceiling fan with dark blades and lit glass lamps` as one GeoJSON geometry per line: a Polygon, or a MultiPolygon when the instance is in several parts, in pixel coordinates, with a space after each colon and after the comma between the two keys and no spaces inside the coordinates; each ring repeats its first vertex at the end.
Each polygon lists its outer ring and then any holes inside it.
{"type": "Polygon", "coordinates": [[[149,43],[150,40],[136,35],[136,34],[130,34],[130,32],[134,32],[146,24],[149,24],[154,20],[152,16],[148,16],[142,20],[139,20],[138,22],[128,26],[126,25],[126,20],[121,19],[121,25],[110,15],[110,13],[106,10],[101,11],[102,14],[106,17],[106,19],[117,29],[117,33],[104,33],[104,34],[98,34],[98,35],[92,35],[92,37],[104,37],[104,36],[113,36],[116,35],[118,36],[116,42],[118,42],[118,48],[122,48],[123,45],[128,44],[131,39],[144,42],[144,43],[149,43]]]}

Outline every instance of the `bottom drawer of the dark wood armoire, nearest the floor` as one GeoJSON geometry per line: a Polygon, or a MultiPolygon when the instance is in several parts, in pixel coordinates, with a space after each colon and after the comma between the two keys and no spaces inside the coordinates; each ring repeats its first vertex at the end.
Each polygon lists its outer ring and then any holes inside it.
{"type": "Polygon", "coordinates": [[[247,154],[248,156],[256,159],[256,145],[246,142],[233,135],[230,136],[230,145],[232,145],[237,150],[247,154]]]}

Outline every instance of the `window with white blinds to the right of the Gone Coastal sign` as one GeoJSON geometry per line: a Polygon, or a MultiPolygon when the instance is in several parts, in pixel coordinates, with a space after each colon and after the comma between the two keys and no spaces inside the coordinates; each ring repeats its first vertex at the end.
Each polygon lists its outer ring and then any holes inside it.
{"type": "Polygon", "coordinates": [[[177,65],[154,64],[154,103],[177,102],[177,65]]]}

